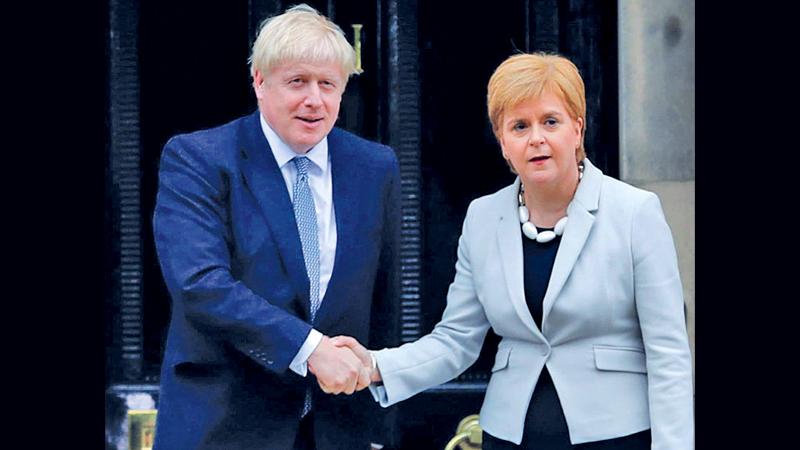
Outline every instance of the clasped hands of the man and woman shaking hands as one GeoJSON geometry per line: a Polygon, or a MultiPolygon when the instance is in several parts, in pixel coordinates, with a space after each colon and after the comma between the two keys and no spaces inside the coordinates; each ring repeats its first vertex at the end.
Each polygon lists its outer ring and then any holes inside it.
{"type": "Polygon", "coordinates": [[[323,392],[350,395],[381,381],[373,361],[369,350],[352,337],[323,336],[308,358],[308,370],[317,377],[323,392]]]}

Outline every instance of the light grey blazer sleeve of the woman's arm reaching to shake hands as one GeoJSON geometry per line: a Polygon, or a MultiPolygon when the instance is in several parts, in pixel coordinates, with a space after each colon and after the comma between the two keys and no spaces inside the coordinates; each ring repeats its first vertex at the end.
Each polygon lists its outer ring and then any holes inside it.
{"type": "Polygon", "coordinates": [[[489,321],[472,279],[469,223],[473,205],[467,211],[458,240],[456,274],[447,292],[442,319],[430,334],[415,342],[375,352],[383,386],[371,391],[381,406],[455,378],[480,355],[489,321]]]}

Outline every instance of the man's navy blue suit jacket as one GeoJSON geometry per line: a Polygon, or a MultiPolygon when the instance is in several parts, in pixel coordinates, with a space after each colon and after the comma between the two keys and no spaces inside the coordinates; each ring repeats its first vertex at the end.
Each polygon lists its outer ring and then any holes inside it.
{"type": "MultiPolygon", "coordinates": [[[[391,329],[397,285],[397,158],[337,128],[328,148],[337,247],[313,327],[379,347],[370,324],[391,329]]],[[[157,450],[290,449],[308,386],[317,448],[368,448],[381,417],[368,391],[327,395],[288,369],[312,328],[309,281],[258,111],[167,142],[153,228],[172,297],[157,450]]]]}

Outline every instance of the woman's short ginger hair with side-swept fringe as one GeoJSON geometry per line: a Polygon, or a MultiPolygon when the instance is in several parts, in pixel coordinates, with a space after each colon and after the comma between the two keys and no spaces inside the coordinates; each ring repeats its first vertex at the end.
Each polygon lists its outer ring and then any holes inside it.
{"type": "Polygon", "coordinates": [[[578,68],[563,56],[523,53],[503,61],[489,79],[486,103],[495,137],[500,140],[503,113],[520,103],[549,92],[564,102],[573,120],[583,119],[577,158],[586,157],[586,94],[578,68]]]}

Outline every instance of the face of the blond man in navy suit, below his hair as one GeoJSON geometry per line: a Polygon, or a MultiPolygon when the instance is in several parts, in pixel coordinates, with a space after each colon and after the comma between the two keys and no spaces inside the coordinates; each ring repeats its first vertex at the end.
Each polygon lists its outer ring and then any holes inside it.
{"type": "Polygon", "coordinates": [[[333,128],[347,78],[336,63],[288,62],[256,71],[253,88],[267,123],[296,153],[304,154],[333,128]]]}

